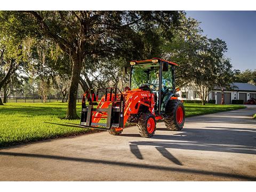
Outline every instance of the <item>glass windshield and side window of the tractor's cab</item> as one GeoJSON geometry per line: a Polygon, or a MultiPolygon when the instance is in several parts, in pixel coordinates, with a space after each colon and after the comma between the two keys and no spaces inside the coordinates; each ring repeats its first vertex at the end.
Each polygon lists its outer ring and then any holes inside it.
{"type": "MultiPolygon", "coordinates": [[[[158,90],[159,87],[159,69],[145,69],[140,66],[133,66],[131,89],[138,89],[143,84],[153,84],[151,88],[158,90]]],[[[162,90],[172,89],[172,73],[169,66],[168,71],[163,71],[162,90]]]]}

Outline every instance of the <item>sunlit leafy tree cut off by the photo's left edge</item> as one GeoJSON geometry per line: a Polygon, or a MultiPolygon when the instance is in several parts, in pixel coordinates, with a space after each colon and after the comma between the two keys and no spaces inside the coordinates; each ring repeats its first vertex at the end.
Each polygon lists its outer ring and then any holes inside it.
{"type": "MultiPolygon", "coordinates": [[[[0,12],[0,91],[15,71],[25,65],[29,57],[29,39],[36,36],[36,31],[33,22],[28,23],[27,15],[0,12]]],[[[0,105],[3,105],[1,98],[0,105]]]]}

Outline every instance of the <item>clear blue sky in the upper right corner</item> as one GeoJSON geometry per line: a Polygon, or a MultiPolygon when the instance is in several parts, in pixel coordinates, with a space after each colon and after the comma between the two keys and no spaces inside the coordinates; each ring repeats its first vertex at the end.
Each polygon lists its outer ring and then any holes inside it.
{"type": "Polygon", "coordinates": [[[203,34],[227,43],[234,69],[256,69],[256,11],[186,11],[201,22],[203,34]]]}

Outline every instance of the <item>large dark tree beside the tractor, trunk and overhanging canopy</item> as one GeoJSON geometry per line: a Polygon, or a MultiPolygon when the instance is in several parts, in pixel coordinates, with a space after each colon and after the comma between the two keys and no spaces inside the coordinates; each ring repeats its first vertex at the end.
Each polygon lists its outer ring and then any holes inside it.
{"type": "Polygon", "coordinates": [[[169,31],[178,21],[175,11],[27,11],[41,27],[43,35],[53,39],[72,61],[67,119],[76,114],[77,88],[83,62],[88,56],[127,53],[137,28],[169,31]],[[154,25],[151,25],[151,24],[154,25]]]}

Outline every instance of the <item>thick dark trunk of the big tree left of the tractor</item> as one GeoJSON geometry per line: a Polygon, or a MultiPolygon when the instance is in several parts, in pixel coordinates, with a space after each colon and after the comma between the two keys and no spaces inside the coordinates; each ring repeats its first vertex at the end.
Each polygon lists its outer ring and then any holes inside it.
{"type": "Polygon", "coordinates": [[[76,113],[76,97],[78,90],[79,77],[82,69],[82,54],[73,55],[73,67],[71,73],[71,82],[68,92],[68,110],[65,119],[79,119],[76,113]]]}

